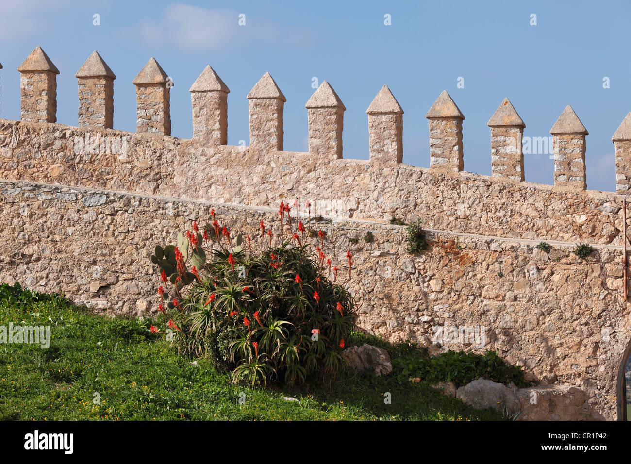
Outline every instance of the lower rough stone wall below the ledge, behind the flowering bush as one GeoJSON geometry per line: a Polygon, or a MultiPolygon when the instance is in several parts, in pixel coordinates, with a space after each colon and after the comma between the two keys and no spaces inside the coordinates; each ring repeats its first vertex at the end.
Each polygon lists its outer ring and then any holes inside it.
{"type": "MultiPolygon", "coordinates": [[[[261,219],[274,235],[280,227],[269,208],[29,182],[0,181],[0,205],[2,282],[62,290],[111,314],[156,312],[153,247],[174,242],[193,220],[208,222],[211,207],[232,230],[256,232],[261,219]]],[[[546,254],[536,241],[428,232],[427,252],[411,256],[401,226],[338,219],[316,227],[326,230],[339,278],[346,250],[354,255],[348,287],[363,330],[439,350],[498,350],[533,381],[580,388],[592,419],[616,417],[630,335],[620,247],[598,246],[581,260],[571,243],[554,242],[546,254]],[[454,335],[475,327],[484,329],[483,346],[454,335]]]]}

